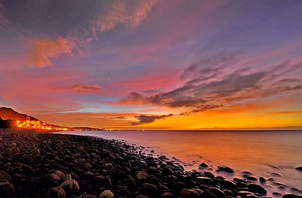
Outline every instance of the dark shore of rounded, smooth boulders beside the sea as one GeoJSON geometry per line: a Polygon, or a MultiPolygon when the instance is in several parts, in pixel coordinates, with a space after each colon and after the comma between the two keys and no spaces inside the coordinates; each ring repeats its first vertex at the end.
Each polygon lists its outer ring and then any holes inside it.
{"type": "Polygon", "coordinates": [[[251,180],[185,171],[122,141],[0,130],[0,197],[252,198],[267,191],[251,180]]]}

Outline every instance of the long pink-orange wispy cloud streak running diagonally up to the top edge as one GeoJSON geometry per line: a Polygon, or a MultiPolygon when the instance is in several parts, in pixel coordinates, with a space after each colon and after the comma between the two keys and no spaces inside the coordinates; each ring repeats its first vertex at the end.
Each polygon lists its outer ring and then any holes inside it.
{"type": "MultiPolygon", "coordinates": [[[[113,30],[118,25],[138,26],[156,3],[156,0],[97,3],[95,6],[99,8],[95,8],[94,17],[86,19],[85,23],[89,25],[72,29],[61,36],[33,37],[29,42],[31,48],[28,55],[29,64],[36,67],[50,66],[52,59],[72,53],[81,53],[93,41],[99,39],[100,33],[113,30]]],[[[6,23],[1,8],[0,4],[0,28],[6,23]]]]}

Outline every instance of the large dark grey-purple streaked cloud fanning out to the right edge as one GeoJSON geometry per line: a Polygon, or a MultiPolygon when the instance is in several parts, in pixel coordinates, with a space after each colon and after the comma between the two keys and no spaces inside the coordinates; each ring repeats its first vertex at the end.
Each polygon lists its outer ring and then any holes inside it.
{"type": "Polygon", "coordinates": [[[146,96],[131,92],[125,104],[154,104],[185,108],[181,115],[234,106],[252,98],[268,98],[302,90],[301,62],[290,61],[255,69],[241,65],[241,52],[222,52],[188,66],[180,75],[185,83],[171,91],[146,96]]]}

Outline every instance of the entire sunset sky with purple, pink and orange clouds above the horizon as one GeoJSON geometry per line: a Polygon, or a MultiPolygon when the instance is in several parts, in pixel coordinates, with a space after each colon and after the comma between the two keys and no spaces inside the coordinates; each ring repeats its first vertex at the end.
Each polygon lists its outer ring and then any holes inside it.
{"type": "Polygon", "coordinates": [[[299,127],[301,10],[301,1],[0,0],[0,106],[68,127],[299,127]]]}

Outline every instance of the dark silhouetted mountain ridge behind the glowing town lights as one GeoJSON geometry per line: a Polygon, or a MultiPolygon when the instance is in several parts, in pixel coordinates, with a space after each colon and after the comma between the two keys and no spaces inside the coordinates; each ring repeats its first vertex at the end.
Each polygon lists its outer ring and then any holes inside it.
{"type": "MultiPolygon", "coordinates": [[[[26,118],[30,117],[30,119],[40,121],[39,119],[28,116],[26,114],[20,114],[16,111],[14,111],[12,108],[7,108],[7,107],[0,107],[0,118],[3,120],[13,120],[13,121],[20,121],[20,122],[25,122],[26,118]]],[[[8,122],[8,121],[7,121],[8,122]]],[[[44,123],[41,121],[41,123],[44,123]]],[[[52,124],[47,124],[46,125],[52,127],[52,128],[62,128],[62,129],[68,129],[68,130],[101,130],[98,128],[91,128],[91,127],[64,127],[64,126],[59,126],[59,125],[52,125],[52,124]]]]}

